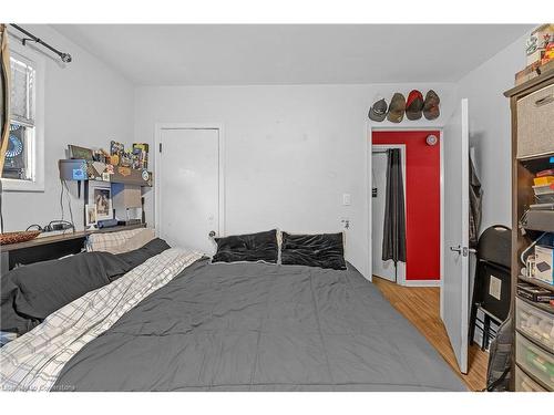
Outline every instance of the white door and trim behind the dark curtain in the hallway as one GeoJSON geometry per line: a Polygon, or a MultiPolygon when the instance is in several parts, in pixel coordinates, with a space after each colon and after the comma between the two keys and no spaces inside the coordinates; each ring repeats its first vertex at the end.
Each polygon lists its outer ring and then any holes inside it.
{"type": "Polygon", "coordinates": [[[400,148],[402,158],[402,183],[404,186],[406,206],[406,146],[373,145],[371,153],[371,273],[376,277],[403,284],[406,281],[406,263],[398,262],[394,276],[394,261],[383,261],[382,236],[384,226],[384,205],[387,195],[387,148],[400,148]]]}

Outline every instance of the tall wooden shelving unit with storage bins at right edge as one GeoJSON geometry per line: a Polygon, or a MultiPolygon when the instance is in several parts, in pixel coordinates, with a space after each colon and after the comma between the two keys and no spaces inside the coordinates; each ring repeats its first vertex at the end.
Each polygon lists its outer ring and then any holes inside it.
{"type": "MultiPolygon", "coordinates": [[[[554,129],[551,127],[554,120],[554,103],[541,101],[544,96],[550,96],[554,91],[554,71],[543,73],[542,75],[519,85],[504,95],[510,98],[510,107],[512,114],[512,308],[511,314],[515,320],[515,314],[520,311],[516,308],[516,288],[519,281],[524,281],[536,287],[554,291],[554,286],[550,286],[534,278],[523,277],[521,270],[524,267],[520,260],[524,252],[533,241],[544,232],[554,232],[554,220],[552,224],[541,221],[542,226],[527,225],[522,219],[525,218],[530,206],[536,203],[533,191],[533,178],[537,172],[554,168],[552,163],[554,157],[554,129]],[[520,125],[519,125],[520,123],[520,125]],[[542,124],[544,123],[544,124],[542,124]],[[523,125],[525,124],[525,125],[523,125]],[[536,132],[536,133],[535,133],[536,132]],[[538,152],[535,152],[540,148],[538,152]]],[[[546,214],[548,215],[548,214],[546,214]]],[[[545,216],[543,216],[544,218],[545,216]]],[[[554,218],[554,217],[553,217],[554,218]]],[[[548,217],[546,216],[546,219],[548,217]]],[[[554,321],[554,308],[547,303],[536,303],[527,299],[520,298],[525,304],[530,305],[530,310],[537,310],[537,314],[550,319],[552,314],[554,321]],[[542,313],[542,314],[541,314],[542,313]]],[[[513,330],[515,332],[515,322],[513,330]]],[[[545,354],[551,362],[554,362],[554,354],[544,345],[536,343],[534,339],[525,334],[523,331],[517,331],[520,336],[523,336],[530,342],[535,343],[537,347],[545,354]]],[[[517,343],[517,342],[515,342],[517,343]]],[[[514,344],[514,355],[519,356],[516,350],[517,344],[514,344]]],[[[523,355],[529,355],[526,351],[522,351],[523,355]]],[[[530,378],[537,381],[534,369],[525,359],[514,359],[512,371],[512,390],[522,390],[515,382],[515,371],[523,373],[530,378]]],[[[552,391],[550,384],[541,381],[542,388],[552,391]]]]}

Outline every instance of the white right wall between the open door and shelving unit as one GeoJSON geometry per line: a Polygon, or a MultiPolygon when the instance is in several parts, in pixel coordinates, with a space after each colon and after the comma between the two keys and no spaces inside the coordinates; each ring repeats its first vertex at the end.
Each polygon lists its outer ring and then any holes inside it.
{"type": "Polygon", "coordinates": [[[514,74],[525,68],[522,37],[460,80],[459,95],[469,98],[470,145],[483,187],[481,230],[511,224],[510,102],[503,92],[514,86],[514,74]]]}

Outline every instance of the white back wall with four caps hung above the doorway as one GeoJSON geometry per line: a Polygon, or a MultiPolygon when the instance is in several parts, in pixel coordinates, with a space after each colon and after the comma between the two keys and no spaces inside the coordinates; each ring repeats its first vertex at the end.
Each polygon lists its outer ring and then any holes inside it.
{"type": "MultiPolygon", "coordinates": [[[[138,87],[135,139],[153,143],[156,122],[223,124],[226,234],[337,231],[348,217],[347,258],[368,276],[367,113],[376,93],[407,95],[413,87],[440,94],[439,120],[376,124],[442,125],[452,84],[138,87]],[[351,206],[341,205],[343,193],[351,206]]],[[[153,222],[152,200],[146,208],[153,222]]]]}

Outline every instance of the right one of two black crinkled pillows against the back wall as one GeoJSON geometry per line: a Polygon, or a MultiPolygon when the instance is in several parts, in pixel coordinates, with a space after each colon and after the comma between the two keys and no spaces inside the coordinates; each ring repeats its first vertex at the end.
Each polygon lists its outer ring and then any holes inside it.
{"type": "Polygon", "coordinates": [[[342,234],[290,235],[283,232],[281,263],[345,270],[342,234]]]}

